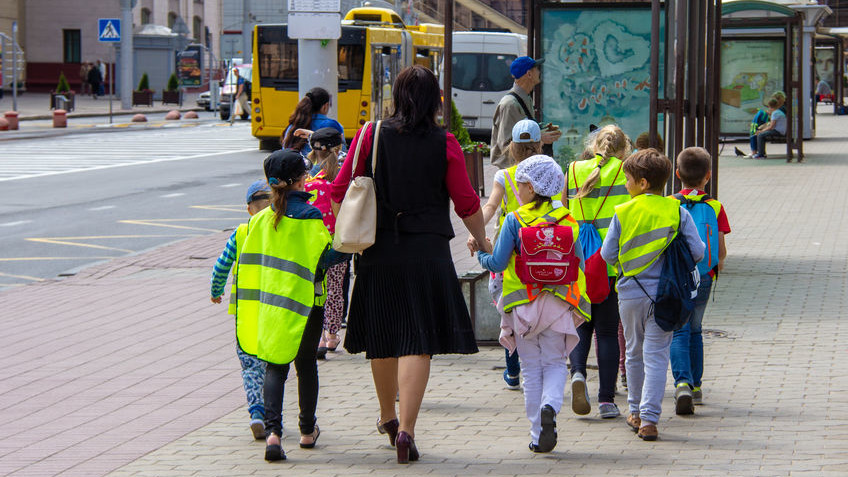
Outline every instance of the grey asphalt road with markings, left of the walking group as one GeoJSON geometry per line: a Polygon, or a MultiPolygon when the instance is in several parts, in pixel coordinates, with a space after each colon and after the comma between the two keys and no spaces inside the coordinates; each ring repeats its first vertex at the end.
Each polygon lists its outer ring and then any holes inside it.
{"type": "Polygon", "coordinates": [[[2,143],[0,288],[235,227],[266,155],[246,123],[2,143]]]}

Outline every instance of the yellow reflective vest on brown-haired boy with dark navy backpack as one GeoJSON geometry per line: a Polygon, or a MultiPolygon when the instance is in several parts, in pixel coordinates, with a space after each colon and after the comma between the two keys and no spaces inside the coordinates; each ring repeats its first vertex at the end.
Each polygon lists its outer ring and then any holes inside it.
{"type": "Polygon", "coordinates": [[[680,201],[654,194],[637,195],[615,208],[621,225],[618,239],[620,272],[628,277],[651,266],[680,228],[680,201]]]}

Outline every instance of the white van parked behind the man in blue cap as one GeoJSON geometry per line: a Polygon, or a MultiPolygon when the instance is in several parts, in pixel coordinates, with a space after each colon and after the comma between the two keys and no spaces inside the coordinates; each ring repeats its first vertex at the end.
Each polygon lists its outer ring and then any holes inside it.
{"type": "Polygon", "coordinates": [[[527,35],[492,31],[453,34],[453,101],[471,134],[492,132],[495,106],[512,89],[509,65],[527,54],[527,35]]]}

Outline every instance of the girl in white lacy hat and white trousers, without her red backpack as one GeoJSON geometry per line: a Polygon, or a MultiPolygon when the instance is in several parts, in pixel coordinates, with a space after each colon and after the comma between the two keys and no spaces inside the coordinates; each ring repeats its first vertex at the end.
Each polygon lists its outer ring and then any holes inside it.
{"type": "Polygon", "coordinates": [[[508,353],[517,350],[521,355],[530,449],[550,452],[557,442],[556,415],[568,378],[566,358],[579,340],[576,325],[589,318],[591,309],[581,295],[586,281],[577,221],[567,208],[552,200],[565,186],[562,169],[551,157],[536,155],[518,165],[515,179],[524,205],[504,220],[492,254],[481,251],[477,259],[487,270],[504,272],[503,293],[498,302],[500,342],[508,353]],[[516,260],[521,250],[521,230],[542,222],[571,229],[572,251],[580,263],[577,280],[571,284],[535,280],[528,284],[526,278],[518,278],[516,260]]]}

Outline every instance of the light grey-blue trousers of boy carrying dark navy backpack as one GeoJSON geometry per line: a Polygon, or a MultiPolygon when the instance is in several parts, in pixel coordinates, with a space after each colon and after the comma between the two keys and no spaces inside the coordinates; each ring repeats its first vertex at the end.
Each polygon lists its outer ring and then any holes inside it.
{"type": "Polygon", "coordinates": [[[631,414],[639,413],[642,425],[656,425],[662,414],[672,333],[657,325],[648,297],[619,300],[618,305],[627,341],[627,404],[631,414]]]}

